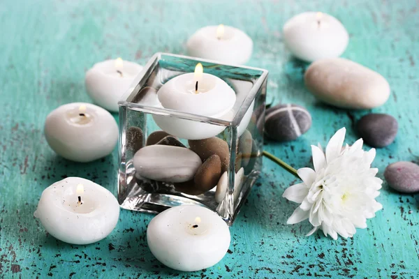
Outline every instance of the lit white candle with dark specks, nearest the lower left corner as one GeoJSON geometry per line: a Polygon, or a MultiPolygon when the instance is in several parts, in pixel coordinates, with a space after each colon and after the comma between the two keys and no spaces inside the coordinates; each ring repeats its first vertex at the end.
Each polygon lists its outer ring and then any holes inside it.
{"type": "Polygon", "coordinates": [[[43,191],[34,216],[56,239],[89,244],[104,239],[115,228],[119,204],[102,186],[68,177],[43,191]]]}

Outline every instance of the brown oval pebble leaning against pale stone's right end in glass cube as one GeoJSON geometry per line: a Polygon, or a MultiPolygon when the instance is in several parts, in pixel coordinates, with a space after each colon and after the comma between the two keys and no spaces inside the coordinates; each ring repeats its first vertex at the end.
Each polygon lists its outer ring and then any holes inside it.
{"type": "Polygon", "coordinates": [[[212,155],[210,158],[205,160],[205,163],[199,167],[196,171],[195,178],[195,187],[207,192],[216,186],[216,183],[220,180],[221,177],[221,159],[218,155],[212,155]]]}

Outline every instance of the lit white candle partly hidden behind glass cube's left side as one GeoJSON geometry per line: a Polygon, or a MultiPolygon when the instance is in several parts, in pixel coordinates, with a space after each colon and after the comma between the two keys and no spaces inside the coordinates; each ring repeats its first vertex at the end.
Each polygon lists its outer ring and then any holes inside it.
{"type": "Polygon", "coordinates": [[[119,99],[141,70],[142,66],[137,63],[120,58],[96,63],[86,73],[87,93],[94,103],[117,112],[119,99]]]}

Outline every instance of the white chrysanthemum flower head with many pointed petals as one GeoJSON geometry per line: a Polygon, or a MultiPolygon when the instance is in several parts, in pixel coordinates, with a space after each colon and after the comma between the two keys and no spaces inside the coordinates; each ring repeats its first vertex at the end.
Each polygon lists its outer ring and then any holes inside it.
{"type": "Polygon", "coordinates": [[[325,153],[321,146],[312,145],[314,170],[298,169],[303,183],[289,187],[282,195],[300,204],[287,224],[308,218],[314,226],[307,236],[322,229],[325,236],[335,240],[337,234],[352,237],[355,228],[366,228],[367,218],[383,208],[375,200],[383,183],[375,177],[378,169],[371,168],[375,149],[363,151],[362,139],[342,149],[345,133],[345,128],[338,130],[325,153]]]}

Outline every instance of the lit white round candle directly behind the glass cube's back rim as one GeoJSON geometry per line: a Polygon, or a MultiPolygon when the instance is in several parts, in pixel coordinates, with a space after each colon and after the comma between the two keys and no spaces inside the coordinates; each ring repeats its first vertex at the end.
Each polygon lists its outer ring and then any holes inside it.
{"type": "Polygon", "coordinates": [[[191,56],[244,64],[250,59],[253,41],[240,29],[221,24],[199,29],[189,38],[186,47],[191,56]]]}

